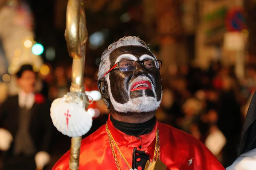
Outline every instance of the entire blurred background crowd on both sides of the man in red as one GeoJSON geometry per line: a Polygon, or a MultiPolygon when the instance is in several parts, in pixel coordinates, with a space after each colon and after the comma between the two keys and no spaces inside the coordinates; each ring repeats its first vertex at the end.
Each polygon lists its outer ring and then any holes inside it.
{"type": "MultiPolygon", "coordinates": [[[[48,66],[49,74],[39,74],[41,94],[53,101],[69,91],[72,67],[48,66]]],[[[86,67],[86,91],[98,90],[97,73],[97,68],[86,67]]],[[[212,62],[208,70],[172,66],[162,75],[163,99],[156,113],[157,119],[201,140],[224,167],[232,164],[238,154],[248,103],[256,90],[256,66],[253,63],[246,66],[244,79],[237,79],[234,66],[224,66],[220,62],[212,62]]],[[[108,119],[108,109],[102,99],[94,101],[90,108],[99,115],[93,119],[93,127],[83,138],[108,119]]],[[[56,129],[54,133],[49,169],[70,148],[70,137],[56,129]]]]}

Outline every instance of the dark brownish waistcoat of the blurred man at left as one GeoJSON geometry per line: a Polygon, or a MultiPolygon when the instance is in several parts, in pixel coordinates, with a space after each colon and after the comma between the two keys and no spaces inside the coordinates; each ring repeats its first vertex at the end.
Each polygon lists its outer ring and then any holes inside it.
{"type": "Polygon", "coordinates": [[[14,154],[16,156],[21,153],[26,156],[35,155],[35,146],[29,133],[31,116],[30,109],[19,109],[19,125],[14,143],[14,154]]]}

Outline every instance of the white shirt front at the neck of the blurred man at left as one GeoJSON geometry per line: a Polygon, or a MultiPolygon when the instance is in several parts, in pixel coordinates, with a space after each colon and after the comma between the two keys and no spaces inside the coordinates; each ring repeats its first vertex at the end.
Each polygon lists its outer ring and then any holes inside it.
{"type": "Polygon", "coordinates": [[[31,109],[35,102],[35,94],[26,94],[24,91],[19,91],[18,100],[20,108],[26,107],[27,109],[31,109]]]}

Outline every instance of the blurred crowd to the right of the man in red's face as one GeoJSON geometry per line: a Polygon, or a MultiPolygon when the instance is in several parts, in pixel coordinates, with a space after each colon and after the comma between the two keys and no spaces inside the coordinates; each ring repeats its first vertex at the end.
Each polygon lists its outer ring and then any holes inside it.
{"type": "Polygon", "coordinates": [[[237,157],[243,120],[256,90],[256,65],[245,67],[243,79],[234,68],[212,62],[206,71],[192,66],[169,69],[156,114],[160,122],[201,140],[224,167],[237,157]]]}

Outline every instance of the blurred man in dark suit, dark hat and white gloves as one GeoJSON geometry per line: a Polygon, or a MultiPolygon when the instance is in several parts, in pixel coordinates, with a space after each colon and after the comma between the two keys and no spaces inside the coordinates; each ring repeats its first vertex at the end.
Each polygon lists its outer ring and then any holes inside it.
{"type": "Polygon", "coordinates": [[[43,169],[50,159],[51,103],[34,93],[36,74],[31,65],[22,65],[16,76],[18,95],[8,97],[0,106],[3,170],[43,169]]]}

